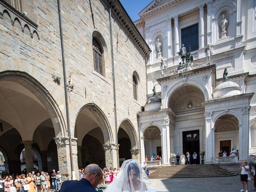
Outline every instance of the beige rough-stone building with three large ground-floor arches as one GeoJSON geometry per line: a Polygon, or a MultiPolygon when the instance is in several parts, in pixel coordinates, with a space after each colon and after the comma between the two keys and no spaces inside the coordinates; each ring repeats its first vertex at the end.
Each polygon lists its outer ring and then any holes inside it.
{"type": "Polygon", "coordinates": [[[58,1],[0,1],[6,172],[22,171],[22,158],[27,172],[55,168],[70,179],[88,163],[140,159],[137,112],[146,102],[149,47],[118,0],[62,0],[60,10],[64,47],[58,1]]]}

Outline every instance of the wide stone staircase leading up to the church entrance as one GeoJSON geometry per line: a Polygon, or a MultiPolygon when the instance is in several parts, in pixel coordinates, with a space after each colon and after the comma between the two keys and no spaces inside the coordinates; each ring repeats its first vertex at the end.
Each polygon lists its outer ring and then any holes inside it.
{"type": "Polygon", "coordinates": [[[225,177],[236,174],[217,165],[179,165],[160,167],[149,174],[149,178],[225,177]]]}

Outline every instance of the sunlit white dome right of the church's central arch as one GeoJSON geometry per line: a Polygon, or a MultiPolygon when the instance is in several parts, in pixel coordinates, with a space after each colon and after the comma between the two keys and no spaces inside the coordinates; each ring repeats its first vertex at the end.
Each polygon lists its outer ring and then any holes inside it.
{"type": "Polygon", "coordinates": [[[241,94],[242,88],[235,82],[226,80],[219,84],[212,93],[214,99],[241,94]]]}

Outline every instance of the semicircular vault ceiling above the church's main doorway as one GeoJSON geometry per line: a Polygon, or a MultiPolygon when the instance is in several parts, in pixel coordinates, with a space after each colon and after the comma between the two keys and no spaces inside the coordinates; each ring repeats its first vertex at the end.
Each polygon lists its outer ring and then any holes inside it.
{"type": "MultiPolygon", "coordinates": [[[[181,86],[176,89],[169,98],[169,108],[172,109],[174,113],[177,113],[182,109],[182,105],[186,106],[186,102],[192,99],[194,105],[192,108],[186,108],[186,110],[193,110],[196,108],[201,108],[201,103],[204,101],[203,92],[196,86],[181,86]]],[[[185,108],[184,108],[185,109],[185,108]]]]}

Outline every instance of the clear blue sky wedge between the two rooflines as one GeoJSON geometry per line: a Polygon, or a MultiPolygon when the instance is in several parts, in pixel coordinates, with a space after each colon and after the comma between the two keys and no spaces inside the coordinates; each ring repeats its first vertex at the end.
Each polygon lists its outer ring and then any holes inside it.
{"type": "Polygon", "coordinates": [[[120,0],[132,21],[140,19],[139,12],[152,1],[153,0],[120,0]]]}

